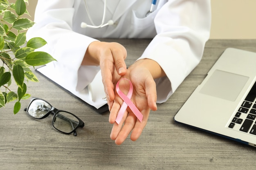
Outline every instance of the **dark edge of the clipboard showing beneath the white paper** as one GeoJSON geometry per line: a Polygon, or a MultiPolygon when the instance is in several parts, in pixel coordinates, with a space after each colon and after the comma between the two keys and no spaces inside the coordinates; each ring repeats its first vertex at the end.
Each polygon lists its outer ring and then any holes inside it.
{"type": "MultiPolygon", "coordinates": [[[[45,66],[45,65],[44,65],[45,66]]],[[[43,66],[42,66],[43,67],[43,66]]],[[[39,67],[41,68],[41,67],[39,67]]],[[[72,95],[73,97],[75,97],[76,99],[79,99],[81,102],[83,102],[84,104],[86,104],[87,106],[89,106],[90,108],[92,108],[94,111],[96,111],[97,113],[104,113],[106,111],[108,111],[108,104],[105,104],[103,106],[101,106],[100,108],[95,108],[94,106],[88,104],[87,102],[85,102],[83,99],[81,99],[80,97],[74,95],[73,93],[71,93],[70,91],[68,91],[67,89],[63,88],[62,86],[60,86],[59,84],[57,84],[56,82],[54,82],[52,79],[50,79],[49,77],[47,77],[46,75],[44,75],[43,73],[41,73],[40,71],[37,70],[38,68],[36,68],[36,72],[40,73],[40,75],[43,75],[43,77],[45,77],[46,79],[48,79],[50,82],[52,82],[53,84],[55,84],[56,86],[58,86],[59,88],[61,88],[63,91],[69,93],[70,95],[72,95]]]]}

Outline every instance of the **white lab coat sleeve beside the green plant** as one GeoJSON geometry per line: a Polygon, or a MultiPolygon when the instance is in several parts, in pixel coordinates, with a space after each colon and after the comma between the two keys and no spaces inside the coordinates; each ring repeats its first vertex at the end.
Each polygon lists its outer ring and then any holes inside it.
{"type": "MultiPolygon", "coordinates": [[[[99,71],[98,66],[81,66],[89,44],[96,41],[88,36],[72,31],[74,0],[38,0],[35,11],[35,24],[27,31],[27,39],[41,37],[47,45],[40,51],[52,55],[66,72],[72,72],[70,86],[77,91],[87,86],[99,71]],[[78,78],[79,77],[79,78],[78,78]]],[[[54,74],[58,74],[55,71],[54,74]]],[[[65,75],[65,73],[62,73],[65,75]]],[[[70,75],[70,74],[69,74],[70,75]]]]}

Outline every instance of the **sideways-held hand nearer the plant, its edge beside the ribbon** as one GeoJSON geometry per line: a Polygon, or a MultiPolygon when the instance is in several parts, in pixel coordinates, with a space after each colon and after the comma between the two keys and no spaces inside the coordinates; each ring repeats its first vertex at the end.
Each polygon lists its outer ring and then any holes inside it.
{"type": "Polygon", "coordinates": [[[82,65],[100,66],[104,91],[110,107],[115,97],[113,82],[117,82],[126,74],[126,56],[126,49],[117,42],[95,41],[88,46],[82,62],[82,65]]]}

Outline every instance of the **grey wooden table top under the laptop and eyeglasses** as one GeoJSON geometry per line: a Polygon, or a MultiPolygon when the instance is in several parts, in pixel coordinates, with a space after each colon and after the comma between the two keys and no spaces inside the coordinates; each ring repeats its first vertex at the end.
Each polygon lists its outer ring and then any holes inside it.
{"type": "MultiPolygon", "coordinates": [[[[129,66],[150,40],[117,41],[128,51],[129,66]]],[[[150,113],[141,137],[121,146],[109,137],[109,113],[98,114],[36,73],[40,83],[27,84],[31,96],[46,99],[85,122],[77,136],[52,127],[52,116],[35,120],[14,103],[0,109],[0,170],[208,170],[255,169],[256,148],[196,130],[173,121],[174,115],[228,47],[256,52],[256,40],[209,40],[200,64],[158,110],[150,113]]],[[[14,82],[13,82],[14,83],[14,82]]],[[[22,100],[22,108],[29,99],[22,100]]]]}

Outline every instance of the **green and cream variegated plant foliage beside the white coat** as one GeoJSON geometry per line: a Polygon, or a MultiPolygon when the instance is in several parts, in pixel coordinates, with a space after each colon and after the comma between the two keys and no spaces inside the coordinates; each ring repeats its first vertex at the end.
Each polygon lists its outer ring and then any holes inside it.
{"type": "Polygon", "coordinates": [[[13,113],[20,110],[21,99],[28,99],[25,83],[39,82],[31,67],[47,64],[55,59],[48,53],[35,51],[46,44],[42,38],[32,38],[26,41],[26,30],[34,22],[22,18],[29,13],[26,9],[28,0],[0,0],[0,108],[9,102],[15,102],[13,113]],[[9,86],[16,83],[17,91],[9,86]]]}

